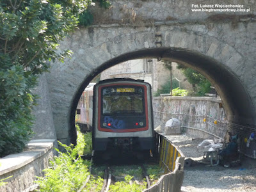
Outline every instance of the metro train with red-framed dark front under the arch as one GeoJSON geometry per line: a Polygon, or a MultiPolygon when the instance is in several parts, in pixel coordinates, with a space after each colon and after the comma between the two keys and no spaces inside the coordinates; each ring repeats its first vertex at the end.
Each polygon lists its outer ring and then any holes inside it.
{"type": "MultiPolygon", "coordinates": [[[[88,97],[89,98],[89,97],[88,97]]],[[[151,86],[141,80],[106,79],[93,86],[93,150],[109,159],[156,150],[151,86]]]]}

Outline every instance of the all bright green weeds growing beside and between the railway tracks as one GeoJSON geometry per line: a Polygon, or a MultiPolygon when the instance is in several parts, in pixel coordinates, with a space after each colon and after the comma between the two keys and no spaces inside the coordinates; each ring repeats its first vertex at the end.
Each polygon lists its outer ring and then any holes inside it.
{"type": "MultiPolygon", "coordinates": [[[[61,147],[65,148],[66,152],[60,152],[58,157],[50,162],[51,168],[44,170],[45,177],[37,177],[36,183],[39,184],[38,191],[57,192],[57,191],[77,191],[83,186],[84,180],[90,174],[88,166],[90,163],[81,159],[80,155],[90,154],[92,152],[92,133],[82,134],[77,129],[77,145],[74,147],[64,145],[59,142],[61,147]],[[85,149],[86,148],[86,149],[85,149]]],[[[86,184],[83,191],[100,191],[103,184],[104,166],[93,167],[95,177],[91,175],[90,180],[86,184]]],[[[115,182],[115,185],[110,186],[110,191],[143,191],[146,189],[146,182],[136,184],[133,182],[131,185],[129,181],[133,179],[143,180],[141,167],[134,166],[113,166],[111,168],[113,175],[122,181],[115,182]],[[131,176],[132,175],[132,176],[131,176]]],[[[163,170],[158,165],[148,165],[147,172],[152,182],[157,182],[157,179],[163,174],[163,170]]],[[[1,181],[0,181],[1,184],[1,181]]]]}

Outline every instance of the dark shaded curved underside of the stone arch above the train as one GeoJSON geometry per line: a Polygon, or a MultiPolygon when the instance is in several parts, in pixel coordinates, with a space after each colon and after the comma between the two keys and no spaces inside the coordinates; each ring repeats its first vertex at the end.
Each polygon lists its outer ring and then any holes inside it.
{"type": "Polygon", "coordinates": [[[254,108],[252,108],[252,99],[248,97],[248,93],[246,92],[241,81],[239,81],[236,75],[232,74],[227,67],[221,65],[221,63],[218,61],[198,52],[187,51],[185,49],[161,47],[155,49],[143,49],[140,51],[123,54],[107,61],[106,63],[102,63],[102,65],[100,65],[88,77],[86,77],[77,90],[76,95],[74,95],[74,99],[72,100],[69,121],[70,129],[72,130],[72,127],[74,127],[75,124],[74,116],[81,93],[88,83],[92,81],[93,77],[97,76],[97,74],[106,68],[112,67],[118,63],[127,60],[149,57],[182,63],[183,65],[204,74],[204,76],[211,81],[212,85],[216,87],[216,90],[220,94],[229,122],[241,125],[253,124],[255,122],[255,112],[254,108]]]}

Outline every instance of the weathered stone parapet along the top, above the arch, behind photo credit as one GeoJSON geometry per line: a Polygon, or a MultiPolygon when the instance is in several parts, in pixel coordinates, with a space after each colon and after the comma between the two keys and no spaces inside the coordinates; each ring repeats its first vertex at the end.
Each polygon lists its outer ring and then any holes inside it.
{"type": "MultiPolygon", "coordinates": [[[[98,23],[116,22],[132,22],[132,20],[196,20],[206,19],[216,12],[193,12],[193,8],[198,6],[218,4],[243,4],[243,8],[250,8],[250,12],[236,12],[236,14],[246,15],[248,13],[255,14],[255,1],[230,1],[228,0],[111,0],[111,8],[108,12],[99,6],[92,8],[93,16],[98,23]],[[246,2],[246,3],[245,3],[246,2]],[[194,6],[193,6],[194,5],[194,6]]],[[[234,15],[234,12],[223,12],[225,15],[234,15]]]]}

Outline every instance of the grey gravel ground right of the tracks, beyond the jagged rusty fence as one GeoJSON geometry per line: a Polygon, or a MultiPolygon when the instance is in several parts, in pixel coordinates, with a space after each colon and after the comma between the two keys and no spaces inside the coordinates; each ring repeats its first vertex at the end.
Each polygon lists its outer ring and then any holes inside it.
{"type": "Polygon", "coordinates": [[[208,148],[197,147],[203,139],[186,135],[167,136],[167,138],[179,147],[186,159],[191,159],[190,166],[184,168],[182,191],[256,191],[256,159],[245,158],[241,165],[231,168],[220,165],[205,166],[207,162],[202,160],[208,148]]]}

